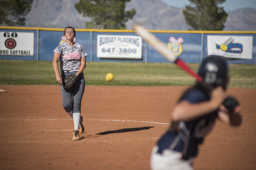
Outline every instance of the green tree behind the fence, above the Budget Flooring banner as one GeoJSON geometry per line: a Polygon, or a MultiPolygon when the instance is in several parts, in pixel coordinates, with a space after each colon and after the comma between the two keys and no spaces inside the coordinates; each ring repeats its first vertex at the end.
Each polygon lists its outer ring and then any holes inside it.
{"type": "Polygon", "coordinates": [[[125,29],[125,23],[136,14],[134,8],[125,12],[125,3],[130,0],[80,0],[75,4],[79,14],[92,18],[86,22],[91,29],[125,29]]]}

